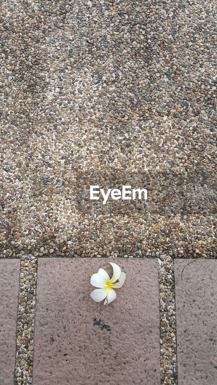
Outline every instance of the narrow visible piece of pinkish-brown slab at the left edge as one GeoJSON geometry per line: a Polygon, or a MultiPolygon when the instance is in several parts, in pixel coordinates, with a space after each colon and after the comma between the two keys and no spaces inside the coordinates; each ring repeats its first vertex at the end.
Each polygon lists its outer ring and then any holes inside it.
{"type": "Polygon", "coordinates": [[[0,384],[14,381],[20,261],[0,260],[0,384]]]}

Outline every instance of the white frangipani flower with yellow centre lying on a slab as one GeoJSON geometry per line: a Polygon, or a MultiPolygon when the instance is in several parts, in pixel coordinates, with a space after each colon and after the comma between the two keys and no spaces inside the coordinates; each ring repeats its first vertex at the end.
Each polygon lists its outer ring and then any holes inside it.
{"type": "Polygon", "coordinates": [[[98,273],[93,274],[90,278],[91,285],[99,288],[90,293],[91,298],[95,302],[105,300],[104,305],[115,300],[116,293],[113,289],[121,288],[124,285],[126,275],[121,271],[116,263],[108,262],[112,265],[113,276],[110,279],[109,275],[104,269],[99,269],[98,273]],[[118,282],[116,282],[118,280],[118,282]],[[115,283],[116,282],[116,283],[115,283]]]}

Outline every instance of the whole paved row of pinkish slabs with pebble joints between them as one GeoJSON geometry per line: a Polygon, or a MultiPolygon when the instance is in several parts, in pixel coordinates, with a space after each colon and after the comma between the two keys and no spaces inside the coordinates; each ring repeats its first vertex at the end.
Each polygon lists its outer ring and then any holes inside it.
{"type": "Polygon", "coordinates": [[[166,256],[2,259],[0,385],[214,385],[217,261],[176,259],[175,274],[173,265],[166,256]],[[103,306],[90,275],[111,276],[108,260],[126,280],[103,306]]]}

